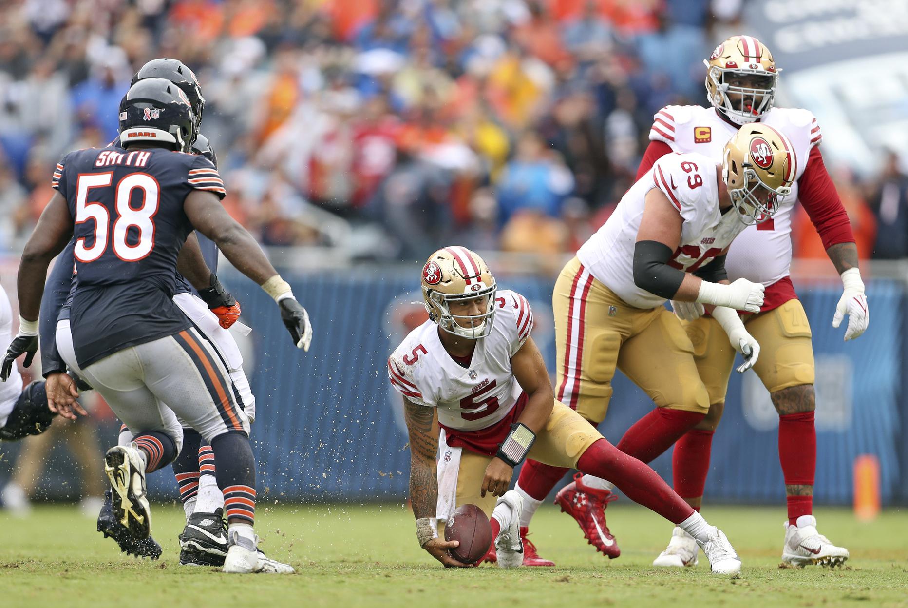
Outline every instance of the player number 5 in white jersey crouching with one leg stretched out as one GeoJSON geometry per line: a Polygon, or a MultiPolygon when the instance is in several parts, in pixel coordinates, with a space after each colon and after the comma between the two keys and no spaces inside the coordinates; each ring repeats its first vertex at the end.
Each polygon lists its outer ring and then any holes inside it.
{"type": "Polygon", "coordinates": [[[696,537],[714,573],[740,572],[741,561],[724,533],[646,464],[617,451],[577,412],[555,401],[530,337],[533,314],[526,298],[499,292],[479,255],[459,246],[439,249],[423,266],[422,293],[429,320],[388,360],[410,432],[410,501],[420,547],[446,566],[469,565],[450,555],[458,543],[439,539],[438,523],[472,503],[490,516],[498,565],[521,565],[523,500],[508,484],[513,467],[530,454],[607,475],[629,498],[696,537]]]}

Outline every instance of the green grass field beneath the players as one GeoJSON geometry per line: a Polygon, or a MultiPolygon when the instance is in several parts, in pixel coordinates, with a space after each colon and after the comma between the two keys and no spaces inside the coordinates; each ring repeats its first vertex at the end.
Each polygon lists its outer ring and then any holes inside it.
{"type": "Polygon", "coordinates": [[[577,524],[540,509],[532,539],[556,568],[503,571],[488,565],[445,570],[416,545],[401,506],[274,506],[260,503],[262,548],[298,570],[291,576],[228,576],[181,567],[178,507],[155,505],[157,562],[127,558],[74,507],[45,506],[31,517],[0,513],[0,605],[67,608],[155,606],[726,605],[908,606],[908,511],[857,523],[847,510],[821,509],[821,532],[851,550],[844,569],[779,568],[784,508],[723,507],[704,513],[744,560],[739,577],[649,564],[671,526],[626,501],[608,509],[622,547],[608,561],[583,542],[577,524]]]}

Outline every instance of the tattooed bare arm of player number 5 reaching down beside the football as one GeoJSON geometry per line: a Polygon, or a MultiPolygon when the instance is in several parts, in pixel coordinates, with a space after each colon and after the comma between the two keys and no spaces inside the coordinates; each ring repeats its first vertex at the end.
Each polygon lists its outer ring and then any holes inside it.
{"type": "Polygon", "coordinates": [[[439,429],[435,408],[414,404],[403,398],[404,420],[410,434],[410,503],[416,516],[417,538],[429,555],[445,567],[468,566],[451,557],[448,550],[459,545],[435,537],[435,511],[439,502],[439,481],[435,477],[435,454],[439,449],[439,429]],[[423,537],[429,534],[428,540],[423,537]]]}

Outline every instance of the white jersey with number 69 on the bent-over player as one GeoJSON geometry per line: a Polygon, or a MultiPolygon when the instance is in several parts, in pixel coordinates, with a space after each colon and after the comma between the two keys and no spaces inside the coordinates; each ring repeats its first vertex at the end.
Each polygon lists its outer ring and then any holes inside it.
{"type": "Polygon", "coordinates": [[[716,161],[703,154],[666,154],[631,186],[615,212],[577,251],[580,263],[622,300],[655,308],[666,299],[634,283],[634,248],[646,193],[658,188],[684,220],[671,266],[693,273],[708,264],[741,233],[745,224],[735,209],[719,213],[716,161]]]}

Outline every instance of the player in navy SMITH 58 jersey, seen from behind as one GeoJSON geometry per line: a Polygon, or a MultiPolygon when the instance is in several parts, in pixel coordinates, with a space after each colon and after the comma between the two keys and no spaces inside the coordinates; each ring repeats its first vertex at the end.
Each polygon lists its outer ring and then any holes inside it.
{"type": "MultiPolygon", "coordinates": [[[[223,489],[228,573],[292,572],[256,552],[255,463],[249,416],[217,349],[174,303],[177,258],[193,228],[275,299],[294,344],[308,350],[311,325],[290,285],[220,204],[226,193],[213,164],[187,153],[196,120],[170,81],[139,80],[123,98],[122,147],[64,156],[58,191],[25,246],[19,269],[20,324],[34,332],[47,265],[74,236],[76,287],[70,321],[57,326],[62,358],[94,386],[133,434],[114,446],[105,471],[114,514],[147,538],[145,473],[173,461],[183,441],[177,415],[212,445],[223,489]]],[[[52,409],[70,413],[71,398],[52,409]]]]}

